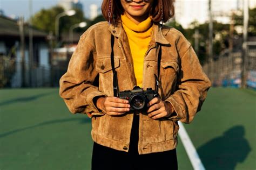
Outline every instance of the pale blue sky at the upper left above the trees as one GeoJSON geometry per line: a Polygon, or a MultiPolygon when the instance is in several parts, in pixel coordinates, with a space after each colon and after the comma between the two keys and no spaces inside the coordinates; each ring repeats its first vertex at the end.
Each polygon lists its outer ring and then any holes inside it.
{"type": "MultiPolygon", "coordinates": [[[[29,12],[30,0],[0,0],[0,9],[3,10],[5,16],[24,16],[27,20],[30,16],[29,12]]],[[[31,0],[32,1],[32,13],[35,14],[41,9],[48,9],[51,6],[57,5],[59,0],[31,0]]],[[[86,17],[89,17],[89,6],[91,4],[97,4],[100,6],[102,0],[80,0],[83,4],[84,13],[86,17]]]]}

